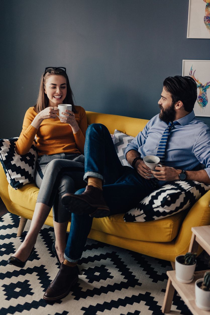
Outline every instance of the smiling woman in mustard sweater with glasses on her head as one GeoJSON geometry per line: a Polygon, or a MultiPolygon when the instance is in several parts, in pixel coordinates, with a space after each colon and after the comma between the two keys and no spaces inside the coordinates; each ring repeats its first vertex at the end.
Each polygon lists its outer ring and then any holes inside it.
{"type": "Polygon", "coordinates": [[[74,192],[85,186],[82,154],[87,118],[81,106],[74,106],[72,97],[66,69],[45,68],[37,104],[26,111],[23,129],[16,143],[17,153],[26,154],[36,136],[39,158],[35,181],[40,190],[29,232],[19,249],[9,258],[9,264],[25,266],[52,206],[56,239],[53,251],[59,264],[64,261],[70,212],[62,206],[61,197],[66,192],[74,192]],[[57,116],[59,104],[71,104],[72,111],[62,112],[65,117],[57,116]]]}

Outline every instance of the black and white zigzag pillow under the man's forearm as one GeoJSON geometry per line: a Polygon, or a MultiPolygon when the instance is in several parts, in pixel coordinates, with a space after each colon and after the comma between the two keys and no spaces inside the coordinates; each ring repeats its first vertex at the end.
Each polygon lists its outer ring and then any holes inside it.
{"type": "Polygon", "coordinates": [[[165,218],[192,207],[209,189],[210,185],[198,181],[174,181],[151,192],[123,219],[125,222],[144,222],[165,218]]]}

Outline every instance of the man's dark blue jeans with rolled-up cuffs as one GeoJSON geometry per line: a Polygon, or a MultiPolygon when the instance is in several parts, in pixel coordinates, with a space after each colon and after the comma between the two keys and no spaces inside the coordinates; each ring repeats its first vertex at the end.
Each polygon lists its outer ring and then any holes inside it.
{"type": "MultiPolygon", "coordinates": [[[[84,147],[85,175],[104,182],[103,196],[111,215],[125,213],[156,188],[152,180],[145,180],[133,168],[122,166],[109,130],[102,124],[91,124],[86,131],[84,147]]],[[[80,189],[76,194],[81,194],[80,189]]],[[[93,218],[71,214],[71,229],[64,257],[76,262],[82,256],[93,218]]]]}

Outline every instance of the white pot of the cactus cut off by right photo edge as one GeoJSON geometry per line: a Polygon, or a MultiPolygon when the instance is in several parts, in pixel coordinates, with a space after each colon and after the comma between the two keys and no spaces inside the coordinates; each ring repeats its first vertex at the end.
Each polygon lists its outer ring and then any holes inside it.
{"type": "Polygon", "coordinates": [[[204,291],[197,285],[202,282],[203,278],[195,282],[196,305],[201,310],[210,311],[210,291],[204,291]]]}

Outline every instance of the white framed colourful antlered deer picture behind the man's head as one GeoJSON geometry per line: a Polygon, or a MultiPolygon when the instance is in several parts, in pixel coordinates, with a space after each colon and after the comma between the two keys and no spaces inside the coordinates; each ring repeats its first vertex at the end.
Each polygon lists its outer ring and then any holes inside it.
{"type": "Polygon", "coordinates": [[[197,83],[195,115],[210,117],[210,60],[182,60],[182,75],[197,83]]]}

